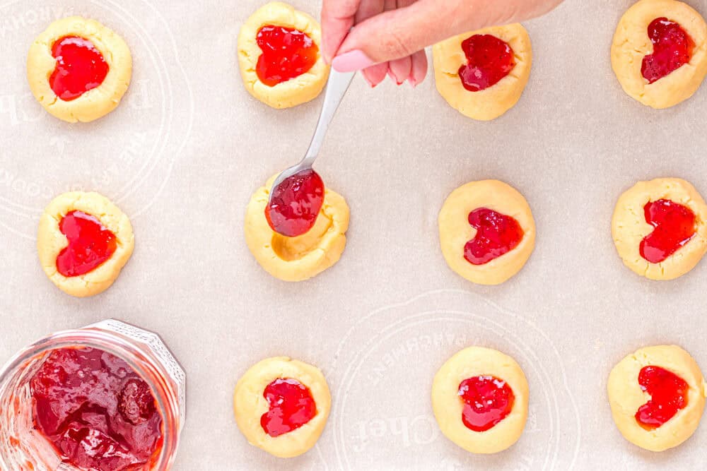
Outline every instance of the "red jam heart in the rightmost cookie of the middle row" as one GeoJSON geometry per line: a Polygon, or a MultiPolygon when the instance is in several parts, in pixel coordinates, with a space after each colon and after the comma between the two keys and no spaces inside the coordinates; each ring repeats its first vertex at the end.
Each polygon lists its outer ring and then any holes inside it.
{"type": "Polygon", "coordinates": [[[695,213],[670,200],[649,201],[643,206],[645,222],[655,227],[638,246],[650,263],[660,263],[695,235],[695,213]]]}

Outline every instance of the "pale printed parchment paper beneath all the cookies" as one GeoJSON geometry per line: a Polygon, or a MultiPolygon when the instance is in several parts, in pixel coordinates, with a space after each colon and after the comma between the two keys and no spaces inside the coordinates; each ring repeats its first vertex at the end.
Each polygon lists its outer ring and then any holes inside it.
{"type": "Polygon", "coordinates": [[[610,69],[631,3],[567,0],[526,23],[530,83],[491,123],[450,109],[430,78],[415,90],[356,78],[317,162],[351,206],[349,243],[337,266],[291,285],[250,256],[243,215],[302,155],[320,100],[276,111],[245,92],[238,29],[262,1],[0,0],[1,361],[104,318],[160,333],[187,370],[177,471],[703,466],[707,424],[654,454],[621,438],[607,404],[609,370],[638,347],[674,342],[707,367],[707,263],[650,282],[611,240],[614,202],[638,179],[682,177],[707,194],[707,88],[656,112],[610,69]],[[68,14],[101,20],[134,55],[124,103],[93,124],[49,117],[25,80],[33,37],[68,14]],[[499,287],[462,280],[438,249],[445,196],[484,178],[518,188],[537,222],[530,261],[499,287]],[[68,189],[114,198],[135,229],[132,260],[93,299],[59,292],[37,263],[37,217],[68,189]],[[434,422],[433,375],[467,345],[512,354],[530,382],[525,434],[506,453],[469,455],[434,422]],[[247,367],[281,354],[320,366],[334,398],[316,448],[286,462],[247,445],[230,403],[247,367]]]}

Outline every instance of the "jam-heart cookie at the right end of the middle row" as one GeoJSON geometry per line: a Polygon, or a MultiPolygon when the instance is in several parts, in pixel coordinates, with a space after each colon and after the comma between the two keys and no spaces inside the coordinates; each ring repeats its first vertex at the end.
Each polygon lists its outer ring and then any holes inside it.
{"type": "Polygon", "coordinates": [[[639,181],[619,197],[612,235],[627,267],[650,280],[672,280],[707,251],[706,220],[707,204],[687,181],[639,181]]]}

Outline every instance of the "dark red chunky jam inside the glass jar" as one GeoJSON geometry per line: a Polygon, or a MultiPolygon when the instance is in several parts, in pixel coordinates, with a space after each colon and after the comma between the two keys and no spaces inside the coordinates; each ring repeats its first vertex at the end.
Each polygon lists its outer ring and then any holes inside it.
{"type": "Polygon", "coordinates": [[[127,363],[95,349],[49,354],[30,381],[35,428],[64,463],[134,470],[156,459],[162,418],[150,388],[127,363]]]}

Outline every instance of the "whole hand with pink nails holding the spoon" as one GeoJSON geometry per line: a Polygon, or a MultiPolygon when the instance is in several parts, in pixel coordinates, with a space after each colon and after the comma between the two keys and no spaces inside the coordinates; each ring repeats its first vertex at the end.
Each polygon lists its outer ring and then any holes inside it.
{"type": "Polygon", "coordinates": [[[322,49],[341,72],[388,74],[413,86],[427,74],[424,48],[465,31],[542,16],[562,0],[324,0],[322,49]],[[351,29],[354,27],[354,29],[351,29]]]}

